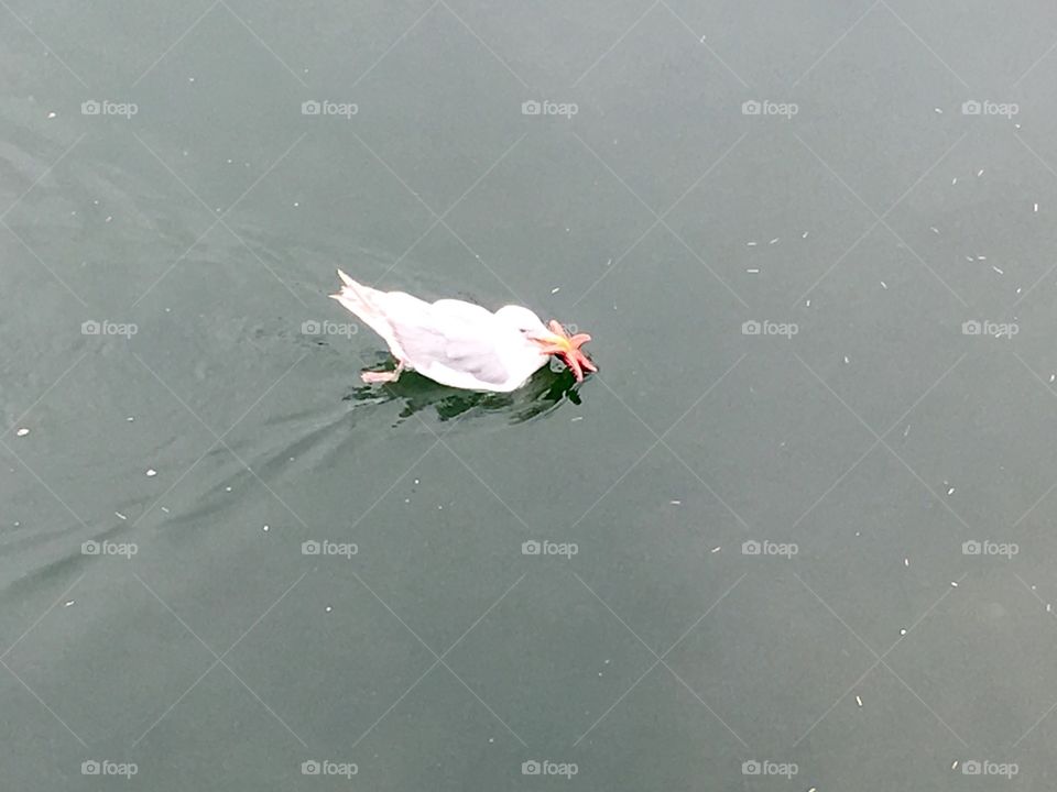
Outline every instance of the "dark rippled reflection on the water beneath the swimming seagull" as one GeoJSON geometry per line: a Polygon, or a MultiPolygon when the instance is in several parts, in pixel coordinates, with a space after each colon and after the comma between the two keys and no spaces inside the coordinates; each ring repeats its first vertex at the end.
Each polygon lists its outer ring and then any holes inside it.
{"type": "MultiPolygon", "coordinates": [[[[371,369],[382,371],[392,367],[388,355],[379,355],[379,364],[371,369]]],[[[521,388],[511,393],[460,391],[407,372],[384,387],[363,385],[352,388],[344,397],[345,402],[375,405],[402,402],[403,409],[394,426],[429,408],[436,410],[442,421],[472,415],[504,414],[510,424],[523,424],[556,410],[566,399],[575,405],[580,404],[578,383],[573,372],[557,362],[544,366],[521,388]]]]}

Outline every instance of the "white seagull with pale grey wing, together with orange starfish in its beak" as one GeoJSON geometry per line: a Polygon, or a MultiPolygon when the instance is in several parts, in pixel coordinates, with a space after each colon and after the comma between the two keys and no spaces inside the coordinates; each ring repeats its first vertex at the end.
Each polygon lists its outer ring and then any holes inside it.
{"type": "Polygon", "coordinates": [[[509,393],[559,355],[577,382],[598,371],[581,350],[587,333],[569,336],[562,323],[544,324],[524,306],[494,314],[472,302],[426,302],[404,292],[381,292],[338,270],[341,290],[330,295],[389,344],[397,361],[392,372],[360,373],[366,383],[396,382],[403,371],[456,388],[509,393]]]}

